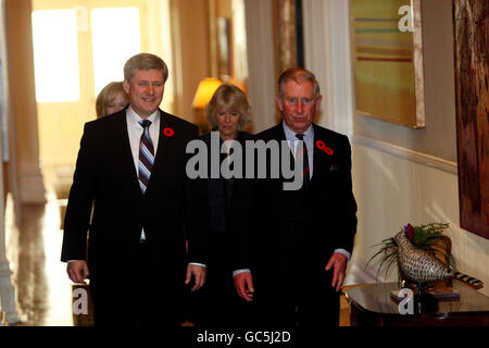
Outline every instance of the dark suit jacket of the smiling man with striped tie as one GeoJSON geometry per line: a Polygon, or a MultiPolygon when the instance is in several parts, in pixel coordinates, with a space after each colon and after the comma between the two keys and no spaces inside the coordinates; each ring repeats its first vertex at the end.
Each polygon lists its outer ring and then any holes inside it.
{"type": "Polygon", "coordinates": [[[198,128],[161,110],[160,114],[159,145],[145,195],[130,152],[126,111],[85,125],[64,221],[61,259],[87,260],[92,279],[110,283],[127,276],[127,265],[134,264],[137,257],[142,227],[150,258],[161,270],[154,274],[156,279],[165,278],[170,286],[183,284],[186,236],[188,261],[206,262],[206,187],[203,181],[188,179],[185,171],[186,145],[198,137],[198,128]],[[121,261],[124,266],[114,268],[114,262],[121,261]]]}

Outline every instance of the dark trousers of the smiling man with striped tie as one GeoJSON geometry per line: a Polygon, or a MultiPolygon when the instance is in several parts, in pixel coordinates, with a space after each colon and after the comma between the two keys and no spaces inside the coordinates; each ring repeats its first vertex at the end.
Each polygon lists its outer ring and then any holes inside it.
{"type": "MultiPolygon", "coordinates": [[[[127,265],[114,260],[114,269],[126,271],[126,277],[110,273],[90,281],[96,326],[158,326],[170,332],[181,324],[180,294],[173,284],[158,281],[158,264],[150,260],[146,243],[138,246],[137,264],[127,265]],[[171,290],[168,290],[171,289],[171,290]]],[[[120,270],[114,270],[116,274],[120,270]]]]}

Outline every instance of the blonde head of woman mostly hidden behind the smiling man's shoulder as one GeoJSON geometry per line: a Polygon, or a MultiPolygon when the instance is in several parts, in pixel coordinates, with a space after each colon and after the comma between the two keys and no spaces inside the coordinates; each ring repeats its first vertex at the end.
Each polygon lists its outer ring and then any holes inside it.
{"type": "Polygon", "coordinates": [[[103,87],[97,96],[97,119],[123,110],[129,103],[129,97],[123,88],[122,82],[113,82],[103,87]]]}

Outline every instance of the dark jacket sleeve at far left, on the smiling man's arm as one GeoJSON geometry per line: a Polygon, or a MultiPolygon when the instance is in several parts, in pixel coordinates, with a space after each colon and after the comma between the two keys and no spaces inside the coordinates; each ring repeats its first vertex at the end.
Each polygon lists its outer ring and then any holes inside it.
{"type": "Polygon", "coordinates": [[[95,196],[92,142],[92,133],[86,124],[64,219],[61,261],[86,260],[87,233],[95,196]]]}

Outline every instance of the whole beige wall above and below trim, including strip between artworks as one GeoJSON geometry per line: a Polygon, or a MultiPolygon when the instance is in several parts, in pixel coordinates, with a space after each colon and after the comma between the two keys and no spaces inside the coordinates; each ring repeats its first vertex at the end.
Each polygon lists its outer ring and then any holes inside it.
{"type": "Polygon", "coordinates": [[[459,270],[485,282],[489,295],[489,240],[460,227],[451,1],[423,3],[426,129],[353,115],[359,228],[347,282],[374,281],[375,264],[365,270],[373,246],[406,223],[447,222],[459,270]]]}

